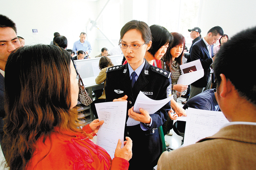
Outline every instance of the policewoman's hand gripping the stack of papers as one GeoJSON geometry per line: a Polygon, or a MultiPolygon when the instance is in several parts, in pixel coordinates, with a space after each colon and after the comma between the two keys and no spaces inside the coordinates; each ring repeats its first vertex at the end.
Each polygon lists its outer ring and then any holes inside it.
{"type": "Polygon", "coordinates": [[[140,113],[133,112],[133,107],[131,107],[128,110],[128,116],[135,121],[140,121],[142,123],[151,123],[151,117],[149,116],[149,113],[146,110],[143,110],[140,108],[140,113]]]}

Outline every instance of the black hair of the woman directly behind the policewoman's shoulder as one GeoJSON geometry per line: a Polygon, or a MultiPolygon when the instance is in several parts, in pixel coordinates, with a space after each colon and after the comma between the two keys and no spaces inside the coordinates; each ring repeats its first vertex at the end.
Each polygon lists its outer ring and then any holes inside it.
{"type": "MultiPolygon", "coordinates": [[[[173,36],[162,26],[152,25],[149,28],[152,34],[152,46],[148,52],[154,56],[162,46],[173,42],[173,36]]],[[[171,46],[171,44],[169,44],[169,46],[171,46]]]]}

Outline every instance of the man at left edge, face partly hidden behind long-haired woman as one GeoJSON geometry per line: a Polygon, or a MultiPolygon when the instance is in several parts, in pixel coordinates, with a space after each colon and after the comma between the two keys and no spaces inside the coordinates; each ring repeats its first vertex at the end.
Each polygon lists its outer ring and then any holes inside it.
{"type": "Polygon", "coordinates": [[[14,49],[21,47],[17,37],[15,23],[7,16],[0,14],[0,143],[3,135],[4,91],[5,91],[5,65],[7,59],[14,49]]]}

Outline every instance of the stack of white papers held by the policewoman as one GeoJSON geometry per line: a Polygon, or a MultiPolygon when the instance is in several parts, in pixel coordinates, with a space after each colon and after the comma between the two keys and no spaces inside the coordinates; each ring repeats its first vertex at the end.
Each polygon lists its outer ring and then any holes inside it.
{"type": "MultiPolygon", "coordinates": [[[[140,108],[146,110],[149,114],[154,114],[159,109],[161,109],[166,103],[170,102],[173,99],[173,95],[169,98],[165,98],[163,100],[153,100],[147,97],[145,94],[140,91],[139,95],[134,104],[133,112],[140,113],[140,108]]],[[[135,121],[134,119],[128,118],[126,122],[127,126],[135,126],[140,124],[139,121],[135,121]]]]}

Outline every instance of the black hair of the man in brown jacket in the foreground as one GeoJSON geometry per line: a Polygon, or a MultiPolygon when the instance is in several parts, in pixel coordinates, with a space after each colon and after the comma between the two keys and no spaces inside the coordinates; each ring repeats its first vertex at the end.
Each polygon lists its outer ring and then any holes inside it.
{"type": "Polygon", "coordinates": [[[256,105],[255,55],[256,27],[237,33],[223,44],[213,62],[217,88],[223,74],[241,97],[256,105]]]}

